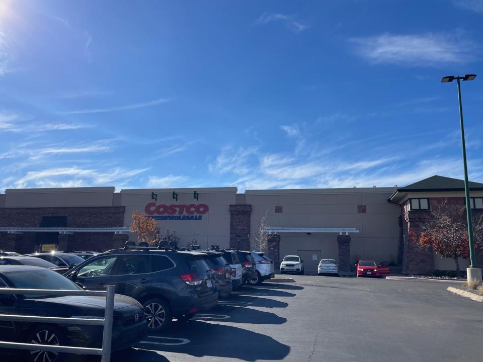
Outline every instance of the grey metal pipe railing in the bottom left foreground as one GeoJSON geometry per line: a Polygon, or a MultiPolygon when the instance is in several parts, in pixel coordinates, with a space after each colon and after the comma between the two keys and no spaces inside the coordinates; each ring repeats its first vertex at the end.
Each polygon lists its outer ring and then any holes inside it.
{"type": "Polygon", "coordinates": [[[0,314],[1,321],[13,322],[44,322],[56,324],[73,324],[73,325],[102,325],[104,326],[102,336],[102,348],[88,347],[70,347],[48,344],[18,343],[0,341],[0,348],[13,349],[34,349],[43,351],[53,351],[61,353],[77,353],[77,354],[95,354],[101,356],[101,362],[109,362],[111,359],[111,342],[112,342],[112,322],[114,313],[114,286],[107,286],[106,291],[66,291],[66,290],[48,290],[48,289],[16,289],[16,288],[0,288],[0,294],[46,294],[55,296],[95,296],[106,297],[106,308],[104,318],[63,318],[63,317],[41,317],[41,316],[25,316],[13,314],[0,314]]]}

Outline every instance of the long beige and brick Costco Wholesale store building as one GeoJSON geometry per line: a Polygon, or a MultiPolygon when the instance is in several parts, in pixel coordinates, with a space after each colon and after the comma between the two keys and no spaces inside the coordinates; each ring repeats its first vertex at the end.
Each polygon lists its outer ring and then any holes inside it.
{"type": "MultiPolygon", "coordinates": [[[[483,212],[483,184],[470,183],[470,188],[473,211],[483,212]]],[[[266,214],[267,253],[277,263],[284,255],[298,254],[307,273],[316,272],[321,258],[338,260],[342,272],[359,259],[389,261],[407,274],[454,270],[453,260],[422,251],[408,237],[444,199],[463,207],[463,181],[432,176],[403,188],[244,194],[236,188],[9,189],[0,194],[0,249],[30,253],[122,247],[135,240],[129,225],[137,211],[154,218],[162,236],[176,235],[179,246],[219,244],[249,250],[256,248],[253,235],[266,214]]],[[[461,266],[466,265],[462,260],[461,266]]]]}

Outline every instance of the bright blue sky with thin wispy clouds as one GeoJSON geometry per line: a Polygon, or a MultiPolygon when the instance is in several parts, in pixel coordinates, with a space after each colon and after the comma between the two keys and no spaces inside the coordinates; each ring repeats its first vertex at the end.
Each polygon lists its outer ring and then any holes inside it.
{"type": "Polygon", "coordinates": [[[483,182],[483,0],[0,1],[0,191],[483,182]]]}

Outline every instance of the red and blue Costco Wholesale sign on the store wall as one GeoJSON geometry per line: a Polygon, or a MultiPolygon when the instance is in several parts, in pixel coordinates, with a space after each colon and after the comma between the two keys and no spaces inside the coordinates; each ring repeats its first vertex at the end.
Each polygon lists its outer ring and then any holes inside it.
{"type": "Polygon", "coordinates": [[[201,220],[208,210],[206,204],[156,205],[152,202],[146,205],[144,213],[155,220],[201,220]]]}

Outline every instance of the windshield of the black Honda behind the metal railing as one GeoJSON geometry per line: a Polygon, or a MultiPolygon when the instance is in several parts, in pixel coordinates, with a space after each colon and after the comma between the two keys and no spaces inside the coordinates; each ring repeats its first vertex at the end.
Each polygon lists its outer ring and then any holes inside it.
{"type": "MultiPolygon", "coordinates": [[[[14,288],[20,289],[54,289],[54,290],[82,290],[81,287],[71,282],[64,276],[49,269],[19,270],[4,272],[5,277],[12,283],[14,288]]],[[[46,294],[27,294],[25,298],[46,298],[46,294]]]]}

